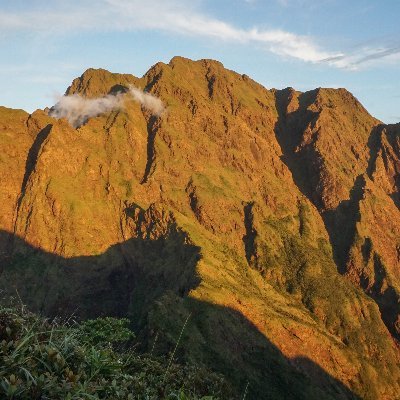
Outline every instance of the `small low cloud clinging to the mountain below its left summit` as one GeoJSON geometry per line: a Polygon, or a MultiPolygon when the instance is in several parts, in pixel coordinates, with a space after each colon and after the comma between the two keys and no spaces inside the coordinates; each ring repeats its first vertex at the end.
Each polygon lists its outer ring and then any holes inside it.
{"type": "MultiPolygon", "coordinates": [[[[150,93],[143,92],[142,90],[131,86],[127,94],[140,103],[144,108],[149,110],[153,115],[160,116],[164,111],[162,101],[150,93]]],[[[79,94],[62,96],[51,108],[49,115],[57,119],[66,118],[74,128],[78,128],[85,124],[89,118],[113,110],[123,109],[125,107],[127,94],[109,94],[94,99],[88,99],[79,94]]]]}

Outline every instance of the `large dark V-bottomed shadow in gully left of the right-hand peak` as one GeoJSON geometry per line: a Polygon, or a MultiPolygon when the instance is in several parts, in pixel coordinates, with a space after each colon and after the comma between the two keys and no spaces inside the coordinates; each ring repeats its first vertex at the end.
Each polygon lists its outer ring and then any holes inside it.
{"type": "MultiPolygon", "coordinates": [[[[300,192],[306,196],[318,210],[323,208],[320,193],[320,160],[312,145],[299,151],[306,127],[315,119],[317,113],[308,107],[315,102],[317,90],[302,93],[298,97],[298,108],[288,112],[291,90],[284,89],[276,94],[278,121],[275,135],[282,149],[282,161],[289,168],[293,181],[300,192]]],[[[321,213],[325,228],[332,245],[333,258],[339,273],[345,273],[345,263],[354,239],[355,225],[359,217],[358,203],[362,197],[365,180],[359,176],[350,193],[350,199],[342,201],[335,210],[321,213]]]]}

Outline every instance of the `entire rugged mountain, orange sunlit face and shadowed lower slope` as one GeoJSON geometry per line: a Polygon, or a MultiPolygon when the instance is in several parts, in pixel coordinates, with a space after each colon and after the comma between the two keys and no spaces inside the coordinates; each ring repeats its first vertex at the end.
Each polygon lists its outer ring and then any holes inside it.
{"type": "Polygon", "coordinates": [[[400,393],[400,125],[344,89],[267,90],[216,61],[67,94],[162,99],[78,129],[0,108],[0,286],[47,315],[129,316],[238,398],[400,393]]]}

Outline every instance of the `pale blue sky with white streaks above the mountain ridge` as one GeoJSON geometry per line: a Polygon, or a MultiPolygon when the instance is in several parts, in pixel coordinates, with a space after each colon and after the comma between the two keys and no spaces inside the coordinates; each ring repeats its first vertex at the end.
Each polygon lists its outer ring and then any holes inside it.
{"type": "Polygon", "coordinates": [[[142,76],[180,55],[267,88],[346,87],[400,121],[398,0],[2,0],[0,105],[51,106],[89,67],[142,76]]]}

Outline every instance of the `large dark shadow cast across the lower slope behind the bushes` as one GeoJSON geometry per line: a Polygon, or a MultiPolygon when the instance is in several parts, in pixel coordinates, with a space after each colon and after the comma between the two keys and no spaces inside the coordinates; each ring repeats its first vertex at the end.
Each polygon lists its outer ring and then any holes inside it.
{"type": "Polygon", "coordinates": [[[17,291],[32,311],[129,316],[144,348],[164,354],[190,316],[177,356],[225,374],[238,398],[248,383],[247,399],[359,399],[310,359],[286,358],[239,312],[189,297],[201,253],[180,232],[68,259],[0,231],[5,241],[12,246],[0,255],[2,297],[17,291]]]}

